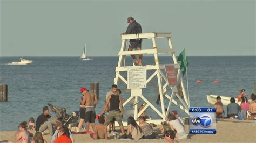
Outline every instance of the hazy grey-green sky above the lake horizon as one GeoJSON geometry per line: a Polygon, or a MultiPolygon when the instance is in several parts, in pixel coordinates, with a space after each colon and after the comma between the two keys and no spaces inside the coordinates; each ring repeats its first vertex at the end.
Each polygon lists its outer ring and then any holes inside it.
{"type": "Polygon", "coordinates": [[[256,55],[254,0],[0,1],[0,56],[80,56],[85,43],[88,56],[118,56],[129,16],[143,33],[171,32],[178,54],[256,55]]]}

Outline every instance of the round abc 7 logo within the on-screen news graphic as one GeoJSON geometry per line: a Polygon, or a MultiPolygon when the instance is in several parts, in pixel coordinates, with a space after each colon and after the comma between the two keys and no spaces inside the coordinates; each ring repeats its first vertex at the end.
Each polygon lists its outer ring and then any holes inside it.
{"type": "Polygon", "coordinates": [[[212,124],[212,117],[206,114],[201,115],[200,117],[193,117],[191,120],[194,126],[200,125],[201,127],[207,128],[212,124]]]}

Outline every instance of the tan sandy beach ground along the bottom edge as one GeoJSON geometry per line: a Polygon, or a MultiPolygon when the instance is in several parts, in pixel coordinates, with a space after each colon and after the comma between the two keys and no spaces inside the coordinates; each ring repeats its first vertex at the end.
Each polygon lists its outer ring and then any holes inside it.
{"type": "MultiPolygon", "coordinates": [[[[179,142],[256,142],[256,121],[255,120],[231,120],[219,119],[217,120],[217,134],[207,135],[191,134],[190,139],[178,140],[179,142]]],[[[159,128],[157,125],[154,129],[159,128]]],[[[186,132],[188,132],[188,125],[185,125],[186,132]]],[[[14,141],[14,134],[16,131],[1,131],[0,141],[8,140],[14,141]]],[[[31,131],[35,133],[35,131],[31,131]]],[[[44,135],[44,139],[50,141],[51,135],[44,135]]],[[[93,140],[89,134],[75,134],[75,142],[165,142],[164,139],[154,140],[93,140]]]]}

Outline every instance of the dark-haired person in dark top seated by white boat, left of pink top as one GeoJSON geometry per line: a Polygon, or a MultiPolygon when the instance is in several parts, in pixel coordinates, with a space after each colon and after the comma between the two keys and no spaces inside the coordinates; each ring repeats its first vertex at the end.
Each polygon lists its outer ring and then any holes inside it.
{"type": "Polygon", "coordinates": [[[238,116],[238,112],[240,111],[240,106],[235,103],[234,97],[230,98],[230,104],[227,105],[227,117],[230,119],[236,118],[238,116]]]}

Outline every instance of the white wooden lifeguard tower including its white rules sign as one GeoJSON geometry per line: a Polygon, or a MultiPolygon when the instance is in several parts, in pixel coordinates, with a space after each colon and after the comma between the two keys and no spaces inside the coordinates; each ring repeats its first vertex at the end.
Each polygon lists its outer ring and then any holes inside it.
{"type": "MultiPolygon", "coordinates": [[[[185,111],[188,114],[188,108],[190,106],[189,97],[187,97],[182,77],[180,76],[180,66],[177,62],[176,55],[174,48],[172,47],[171,42],[171,33],[140,33],[140,34],[127,34],[122,35],[122,46],[120,49],[119,55],[119,61],[118,65],[116,67],[116,77],[114,78],[114,84],[117,84],[122,81],[127,85],[127,89],[131,89],[131,96],[123,102],[123,106],[125,109],[125,105],[127,103],[131,102],[132,99],[134,99],[134,110],[125,110],[125,114],[134,114],[134,119],[137,119],[149,106],[163,119],[159,120],[149,120],[147,122],[154,123],[154,124],[160,124],[160,121],[166,120],[168,117],[168,113],[171,107],[171,104],[174,103],[183,111],[185,111]],[[158,38],[167,38],[167,42],[169,47],[168,48],[160,48],[156,44],[156,39],[158,38]],[[151,39],[153,43],[152,49],[145,49],[143,48],[140,51],[127,51],[126,49],[126,42],[130,39],[151,39]],[[154,65],[145,65],[145,66],[125,66],[125,57],[126,55],[131,54],[153,54],[154,55],[154,65]],[[181,97],[178,94],[177,86],[176,85],[170,85],[168,82],[168,78],[166,77],[166,73],[163,73],[161,69],[165,69],[165,65],[161,65],[158,60],[158,54],[170,54],[173,60],[174,68],[178,71],[176,73],[177,82],[181,84],[181,89],[183,92],[183,97],[181,97]],[[147,73],[147,70],[153,70],[153,74],[149,78],[145,78],[147,73]],[[120,72],[127,72],[127,78],[123,77],[120,72]],[[138,75],[139,78],[137,80],[132,79],[135,76],[138,75]],[[131,77],[133,76],[133,77],[131,77]],[[158,84],[156,87],[158,87],[157,93],[160,95],[160,105],[161,110],[159,111],[145,96],[142,95],[143,88],[146,87],[146,84],[149,84],[153,77],[157,76],[158,84]],[[143,78],[144,77],[144,78],[143,78]],[[132,81],[133,80],[133,81],[132,81]],[[137,82],[137,83],[133,83],[137,82]],[[167,94],[167,91],[171,91],[171,95],[167,94]],[[176,96],[180,103],[179,104],[173,97],[176,96]],[[168,107],[165,107],[164,105],[164,97],[169,100],[168,107]],[[138,98],[141,98],[146,104],[145,108],[143,108],[142,111],[139,113],[138,111],[138,98]],[[167,108],[167,111],[165,111],[165,108],[167,108]]],[[[126,123],[124,123],[125,125],[126,123]]]]}

